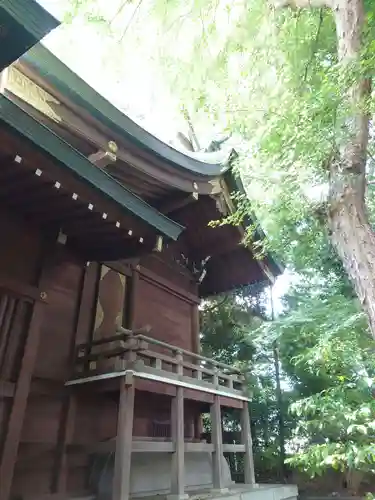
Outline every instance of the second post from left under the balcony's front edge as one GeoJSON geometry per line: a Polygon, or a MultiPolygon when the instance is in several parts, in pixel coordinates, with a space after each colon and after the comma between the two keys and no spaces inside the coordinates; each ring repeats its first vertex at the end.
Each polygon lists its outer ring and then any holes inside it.
{"type": "Polygon", "coordinates": [[[175,446],[172,455],[171,493],[168,500],[189,498],[185,494],[185,433],[184,433],[184,389],[176,388],[171,411],[172,439],[175,446]]]}

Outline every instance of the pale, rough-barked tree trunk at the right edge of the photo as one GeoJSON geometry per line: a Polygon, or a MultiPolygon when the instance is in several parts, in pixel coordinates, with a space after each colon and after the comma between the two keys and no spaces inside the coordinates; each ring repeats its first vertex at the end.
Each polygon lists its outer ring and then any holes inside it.
{"type": "Polygon", "coordinates": [[[332,243],[368,315],[375,338],[375,234],[365,205],[366,159],[370,117],[366,109],[371,82],[360,71],[364,49],[364,0],[274,0],[275,7],[327,7],[336,24],[337,55],[343,72],[356,75],[343,99],[351,116],[346,137],[330,164],[328,228],[332,243]],[[356,71],[357,73],[353,73],[356,71]]]}

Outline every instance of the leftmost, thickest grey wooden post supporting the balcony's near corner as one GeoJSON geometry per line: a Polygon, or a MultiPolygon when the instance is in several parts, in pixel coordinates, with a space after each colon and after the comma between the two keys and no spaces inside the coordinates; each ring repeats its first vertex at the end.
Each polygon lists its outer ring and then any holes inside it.
{"type": "Polygon", "coordinates": [[[130,467],[133,443],[134,378],[127,374],[121,381],[115,470],[112,500],[128,500],[130,494],[130,467]]]}

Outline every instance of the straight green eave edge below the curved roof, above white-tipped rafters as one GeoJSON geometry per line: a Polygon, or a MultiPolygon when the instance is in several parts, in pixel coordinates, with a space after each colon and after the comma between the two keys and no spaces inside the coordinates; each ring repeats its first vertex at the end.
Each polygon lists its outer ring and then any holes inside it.
{"type": "Polygon", "coordinates": [[[34,143],[82,181],[115,201],[128,213],[153,226],[157,232],[172,240],[176,240],[180,235],[182,226],[168,219],[104,170],[93,165],[85,156],[3,95],[0,95],[0,121],[34,143]]]}

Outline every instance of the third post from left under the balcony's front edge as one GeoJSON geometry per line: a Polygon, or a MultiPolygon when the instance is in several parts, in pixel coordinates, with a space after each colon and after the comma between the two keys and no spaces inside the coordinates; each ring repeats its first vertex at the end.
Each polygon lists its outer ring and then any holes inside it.
{"type": "Polygon", "coordinates": [[[228,488],[224,487],[223,474],[223,433],[221,429],[221,408],[220,398],[217,394],[214,396],[214,402],[211,405],[211,433],[214,451],[212,454],[212,476],[213,487],[218,493],[226,493],[228,488]]]}

